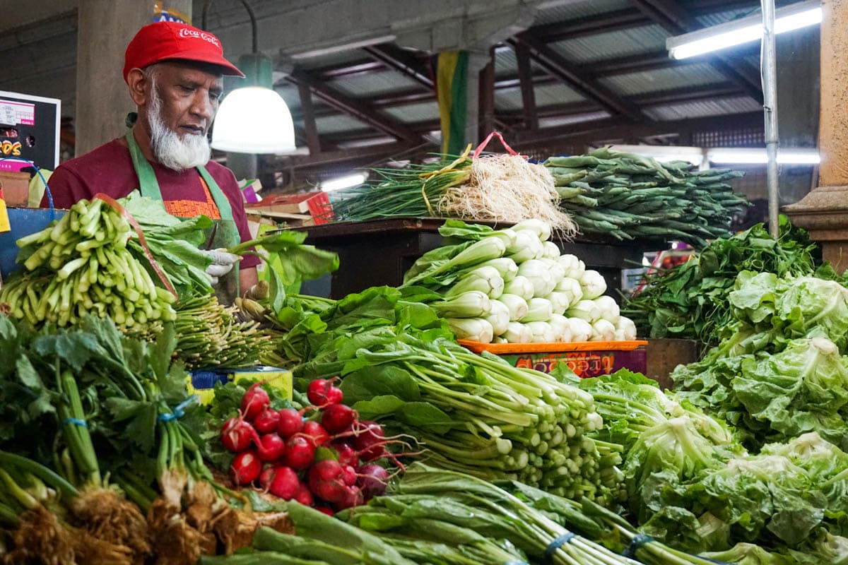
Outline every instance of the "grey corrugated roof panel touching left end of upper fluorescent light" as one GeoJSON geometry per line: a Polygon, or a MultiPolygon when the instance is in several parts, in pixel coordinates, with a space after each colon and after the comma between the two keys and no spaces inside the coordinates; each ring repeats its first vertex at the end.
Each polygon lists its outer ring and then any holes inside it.
{"type": "Polygon", "coordinates": [[[557,53],[575,63],[590,63],[665,49],[668,33],[659,25],[608,31],[552,43],[557,53]]]}

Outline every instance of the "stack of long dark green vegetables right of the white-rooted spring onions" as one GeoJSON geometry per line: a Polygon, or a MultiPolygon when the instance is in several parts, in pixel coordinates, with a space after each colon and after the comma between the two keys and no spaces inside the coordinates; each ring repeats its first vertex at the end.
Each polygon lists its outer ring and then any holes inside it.
{"type": "Polygon", "coordinates": [[[581,233],[632,240],[679,239],[695,246],[730,235],[730,220],[748,206],[724,169],[692,170],[690,163],[659,163],[602,147],[587,155],[551,157],[560,206],[581,233]]]}

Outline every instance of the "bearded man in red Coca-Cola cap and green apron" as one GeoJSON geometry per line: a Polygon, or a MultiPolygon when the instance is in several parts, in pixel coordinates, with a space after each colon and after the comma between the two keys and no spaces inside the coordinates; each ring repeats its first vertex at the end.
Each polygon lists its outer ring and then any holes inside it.
{"type": "Polygon", "coordinates": [[[124,80],[138,108],[135,125],[126,136],[59,165],[49,186],[57,208],[98,192],[120,198],[140,189],[174,216],[214,219],[207,241],[213,263],[207,272],[216,293],[232,302],[239,288],[243,293],[257,282],[259,259],[245,256],[240,269],[233,269],[239,258],[221,252],[250,239],[235,176],[209,160],[207,134],[222,75],[244,76],[224,58],[217,37],[174,22],[145,25],[126,48],[124,64],[124,80]]]}

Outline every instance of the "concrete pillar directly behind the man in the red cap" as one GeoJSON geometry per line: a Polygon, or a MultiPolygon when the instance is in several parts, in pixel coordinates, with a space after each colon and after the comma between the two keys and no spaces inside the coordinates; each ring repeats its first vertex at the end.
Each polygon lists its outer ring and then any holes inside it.
{"type": "MultiPolygon", "coordinates": [[[[76,55],[76,155],[120,136],[132,104],[123,78],[132,36],[153,22],[153,2],[85,0],[79,3],[76,55]]],[[[192,0],[165,0],[191,18],[192,0]]]]}

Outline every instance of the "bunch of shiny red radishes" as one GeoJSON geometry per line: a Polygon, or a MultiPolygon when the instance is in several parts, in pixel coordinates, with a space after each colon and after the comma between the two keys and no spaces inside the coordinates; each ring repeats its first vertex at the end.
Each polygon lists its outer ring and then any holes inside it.
{"type": "Polygon", "coordinates": [[[360,422],[359,414],[342,404],[343,393],[332,380],[312,381],[307,397],[313,406],[298,412],[271,408],[261,383],[244,393],[239,416],[220,430],[221,443],[237,454],[230,466],[232,482],[258,482],[274,496],[331,515],[382,495],[388,472],[374,462],[393,457],[382,426],[360,422]],[[304,419],[307,412],[316,418],[304,419]]]}

